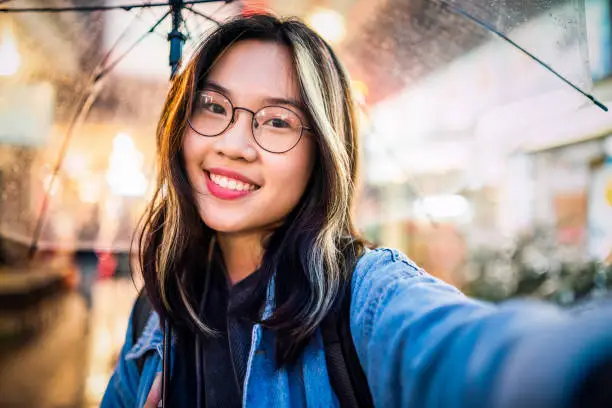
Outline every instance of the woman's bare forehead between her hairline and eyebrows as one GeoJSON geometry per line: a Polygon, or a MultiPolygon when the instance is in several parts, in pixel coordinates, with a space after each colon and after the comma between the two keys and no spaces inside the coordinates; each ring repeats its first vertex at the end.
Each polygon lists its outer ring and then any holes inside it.
{"type": "Polygon", "coordinates": [[[291,52],[271,41],[234,44],[216,61],[208,79],[241,98],[300,99],[291,52]]]}

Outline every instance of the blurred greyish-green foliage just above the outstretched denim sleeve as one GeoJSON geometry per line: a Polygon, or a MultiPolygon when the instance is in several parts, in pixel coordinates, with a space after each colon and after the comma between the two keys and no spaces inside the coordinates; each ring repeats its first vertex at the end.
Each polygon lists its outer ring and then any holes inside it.
{"type": "Polygon", "coordinates": [[[555,242],[540,228],[505,249],[479,248],[468,262],[466,294],[499,302],[514,297],[575,305],[612,289],[612,267],[584,257],[582,248],[555,242]]]}

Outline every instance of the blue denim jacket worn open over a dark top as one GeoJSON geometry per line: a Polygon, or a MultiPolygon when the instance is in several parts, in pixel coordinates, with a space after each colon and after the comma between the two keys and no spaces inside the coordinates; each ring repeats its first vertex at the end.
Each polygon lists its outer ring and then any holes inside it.
{"type": "MultiPolygon", "coordinates": [[[[269,291],[269,293],[273,291],[269,291]]],[[[268,310],[272,299],[268,298],[268,310]]],[[[401,252],[367,250],[352,278],[351,334],[377,407],[566,407],[587,374],[612,361],[612,307],[572,317],[531,301],[494,306],[428,275],[401,252]]],[[[162,370],[153,314],[132,328],[102,407],[142,407],[162,370]],[[142,375],[135,359],[148,353],[142,375]]],[[[338,407],[323,341],[276,369],[274,336],[255,325],[243,407],[338,407]]]]}

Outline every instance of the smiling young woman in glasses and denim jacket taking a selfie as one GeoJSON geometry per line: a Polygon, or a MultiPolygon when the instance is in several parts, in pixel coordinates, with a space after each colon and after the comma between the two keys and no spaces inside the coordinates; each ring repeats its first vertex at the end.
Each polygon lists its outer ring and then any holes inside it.
{"type": "Polygon", "coordinates": [[[128,328],[103,407],[157,406],[162,388],[173,407],[340,406],[322,327],[345,299],[367,379],[354,391],[372,398],[356,406],[562,407],[607,390],[612,308],[485,304],[365,245],[349,80],[301,22],[214,31],[174,80],[157,144],[139,240],[154,312],[128,328]]]}

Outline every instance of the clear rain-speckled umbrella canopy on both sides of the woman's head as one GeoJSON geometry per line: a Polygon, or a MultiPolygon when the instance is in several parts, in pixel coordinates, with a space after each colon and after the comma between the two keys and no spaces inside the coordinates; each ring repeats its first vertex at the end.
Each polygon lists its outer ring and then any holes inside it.
{"type": "MultiPolygon", "coordinates": [[[[363,3],[343,2],[347,21],[363,3]]],[[[0,4],[18,7],[31,4],[0,4]]],[[[185,57],[215,25],[203,16],[223,20],[241,7],[216,2],[183,10],[185,57]]],[[[520,146],[534,121],[591,103],[579,93],[592,87],[583,0],[389,0],[367,10],[370,17],[349,26],[336,48],[363,85],[368,183],[406,183],[425,195],[482,185],[499,172],[491,162],[520,146]],[[456,171],[462,176],[448,175],[456,171]],[[440,172],[448,174],[422,181],[440,172]]],[[[169,76],[168,11],[5,15],[22,61],[1,83],[11,103],[0,106],[0,122],[12,129],[0,140],[3,236],[25,243],[34,237],[43,248],[127,248],[154,179],[154,127],[169,76]],[[100,73],[106,82],[92,86],[100,73]]]]}

